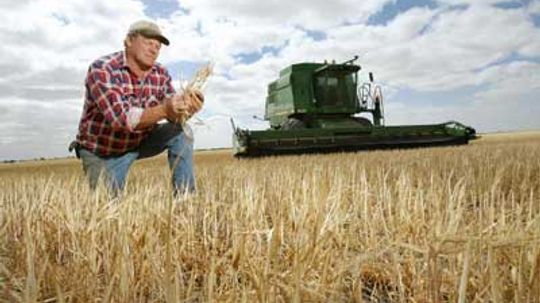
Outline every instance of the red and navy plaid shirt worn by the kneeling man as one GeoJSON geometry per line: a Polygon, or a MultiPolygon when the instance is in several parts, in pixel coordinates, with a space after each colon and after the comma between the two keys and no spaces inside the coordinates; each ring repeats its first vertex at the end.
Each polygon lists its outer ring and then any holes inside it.
{"type": "Polygon", "coordinates": [[[129,72],[124,52],[94,61],[86,76],[85,101],[77,141],[99,155],[135,149],[152,128],[135,130],[144,108],[160,104],[175,91],[171,76],[156,63],[139,81],[129,72]]]}

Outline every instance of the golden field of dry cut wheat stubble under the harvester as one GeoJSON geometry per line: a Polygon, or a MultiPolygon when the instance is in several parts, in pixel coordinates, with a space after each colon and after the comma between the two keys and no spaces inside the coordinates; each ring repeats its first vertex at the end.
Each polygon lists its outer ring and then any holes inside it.
{"type": "Polygon", "coordinates": [[[540,302],[540,132],[195,162],[184,199],[162,156],[116,200],[0,165],[0,301],[540,302]]]}

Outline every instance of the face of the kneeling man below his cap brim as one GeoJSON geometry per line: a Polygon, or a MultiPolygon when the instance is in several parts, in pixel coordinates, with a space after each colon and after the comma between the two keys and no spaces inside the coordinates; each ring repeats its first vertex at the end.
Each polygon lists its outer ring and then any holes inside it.
{"type": "Polygon", "coordinates": [[[161,42],[143,35],[135,35],[128,40],[127,50],[142,70],[154,65],[161,49],[161,42]]]}

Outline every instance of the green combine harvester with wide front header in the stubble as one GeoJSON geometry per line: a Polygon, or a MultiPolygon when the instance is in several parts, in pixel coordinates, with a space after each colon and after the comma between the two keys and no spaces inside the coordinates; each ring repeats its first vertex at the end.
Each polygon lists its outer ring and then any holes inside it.
{"type": "Polygon", "coordinates": [[[430,125],[385,126],[381,88],[358,85],[354,59],[336,63],[299,63],[268,85],[264,119],[270,129],[233,125],[234,155],[252,157],[364,149],[467,144],[474,128],[456,121],[430,125]],[[360,116],[368,113],[372,120],[360,116]]]}

